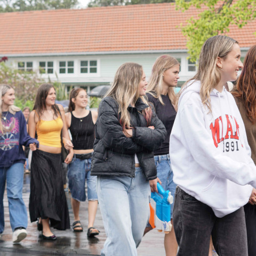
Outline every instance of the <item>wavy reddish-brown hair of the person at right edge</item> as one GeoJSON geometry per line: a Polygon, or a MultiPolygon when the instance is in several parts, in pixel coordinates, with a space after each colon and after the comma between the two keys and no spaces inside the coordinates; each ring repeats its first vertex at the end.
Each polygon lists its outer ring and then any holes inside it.
{"type": "Polygon", "coordinates": [[[254,124],[256,122],[256,45],[247,52],[243,64],[242,73],[231,93],[235,98],[242,99],[246,115],[254,124]]]}

